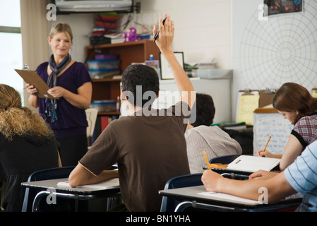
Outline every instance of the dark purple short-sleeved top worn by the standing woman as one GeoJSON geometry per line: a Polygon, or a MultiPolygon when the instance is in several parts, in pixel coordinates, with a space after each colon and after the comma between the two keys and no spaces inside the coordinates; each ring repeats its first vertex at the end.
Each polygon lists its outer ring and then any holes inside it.
{"type": "MultiPolygon", "coordinates": [[[[48,62],[44,62],[37,67],[36,72],[47,83],[47,66],[48,62]]],[[[61,76],[57,77],[56,86],[61,86],[72,93],[77,94],[77,89],[84,83],[91,82],[89,73],[85,64],[75,62],[61,76]]],[[[56,138],[64,138],[67,136],[86,135],[88,122],[84,109],[74,107],[63,97],[57,100],[56,115],[57,121],[51,123],[45,114],[45,99],[39,98],[39,112],[45,121],[51,126],[56,138]]]]}

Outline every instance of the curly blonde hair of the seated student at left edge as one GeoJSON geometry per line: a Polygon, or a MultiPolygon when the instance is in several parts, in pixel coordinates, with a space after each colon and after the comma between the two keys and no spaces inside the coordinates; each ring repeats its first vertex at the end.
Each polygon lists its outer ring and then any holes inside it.
{"type": "Polygon", "coordinates": [[[39,114],[27,107],[22,107],[20,94],[11,86],[0,84],[0,133],[8,141],[13,136],[45,136],[54,135],[39,114]]]}

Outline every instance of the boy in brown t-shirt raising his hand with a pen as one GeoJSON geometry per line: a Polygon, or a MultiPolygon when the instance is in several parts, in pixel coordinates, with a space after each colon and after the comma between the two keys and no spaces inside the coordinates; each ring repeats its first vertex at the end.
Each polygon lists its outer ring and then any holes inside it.
{"type": "MultiPolygon", "coordinates": [[[[74,187],[119,176],[128,211],[159,211],[162,198],[158,191],[170,178],[190,173],[184,133],[195,93],[174,56],[174,22],[167,16],[164,26],[162,18],[159,23],[156,44],[174,73],[181,100],[168,109],[152,109],[149,105],[160,88],[156,71],[141,64],[128,66],[122,75],[121,100],[130,114],[102,131],[68,178],[74,187]],[[107,171],[114,163],[118,170],[107,171]]],[[[155,27],[153,35],[156,32],[155,27]]]]}

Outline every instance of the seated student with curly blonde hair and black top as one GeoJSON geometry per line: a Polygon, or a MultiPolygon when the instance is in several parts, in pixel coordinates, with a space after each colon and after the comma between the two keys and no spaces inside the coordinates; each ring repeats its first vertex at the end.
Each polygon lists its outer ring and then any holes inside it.
{"type": "MultiPolygon", "coordinates": [[[[22,107],[20,94],[0,84],[0,177],[6,182],[5,211],[21,211],[32,172],[61,166],[54,133],[38,114],[22,107]]],[[[4,191],[3,191],[4,192],[4,191]]]]}

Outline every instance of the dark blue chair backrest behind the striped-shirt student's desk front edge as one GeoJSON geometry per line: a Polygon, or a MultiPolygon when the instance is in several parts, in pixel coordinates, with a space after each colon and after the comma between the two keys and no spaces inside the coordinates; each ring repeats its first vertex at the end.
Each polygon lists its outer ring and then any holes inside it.
{"type": "MultiPolygon", "coordinates": [[[[179,177],[173,177],[169,179],[165,184],[165,190],[167,189],[179,189],[187,186],[199,186],[203,185],[201,182],[202,173],[187,174],[179,177]]],[[[173,212],[177,206],[177,199],[172,197],[163,196],[161,204],[161,212],[173,212]]]]}

